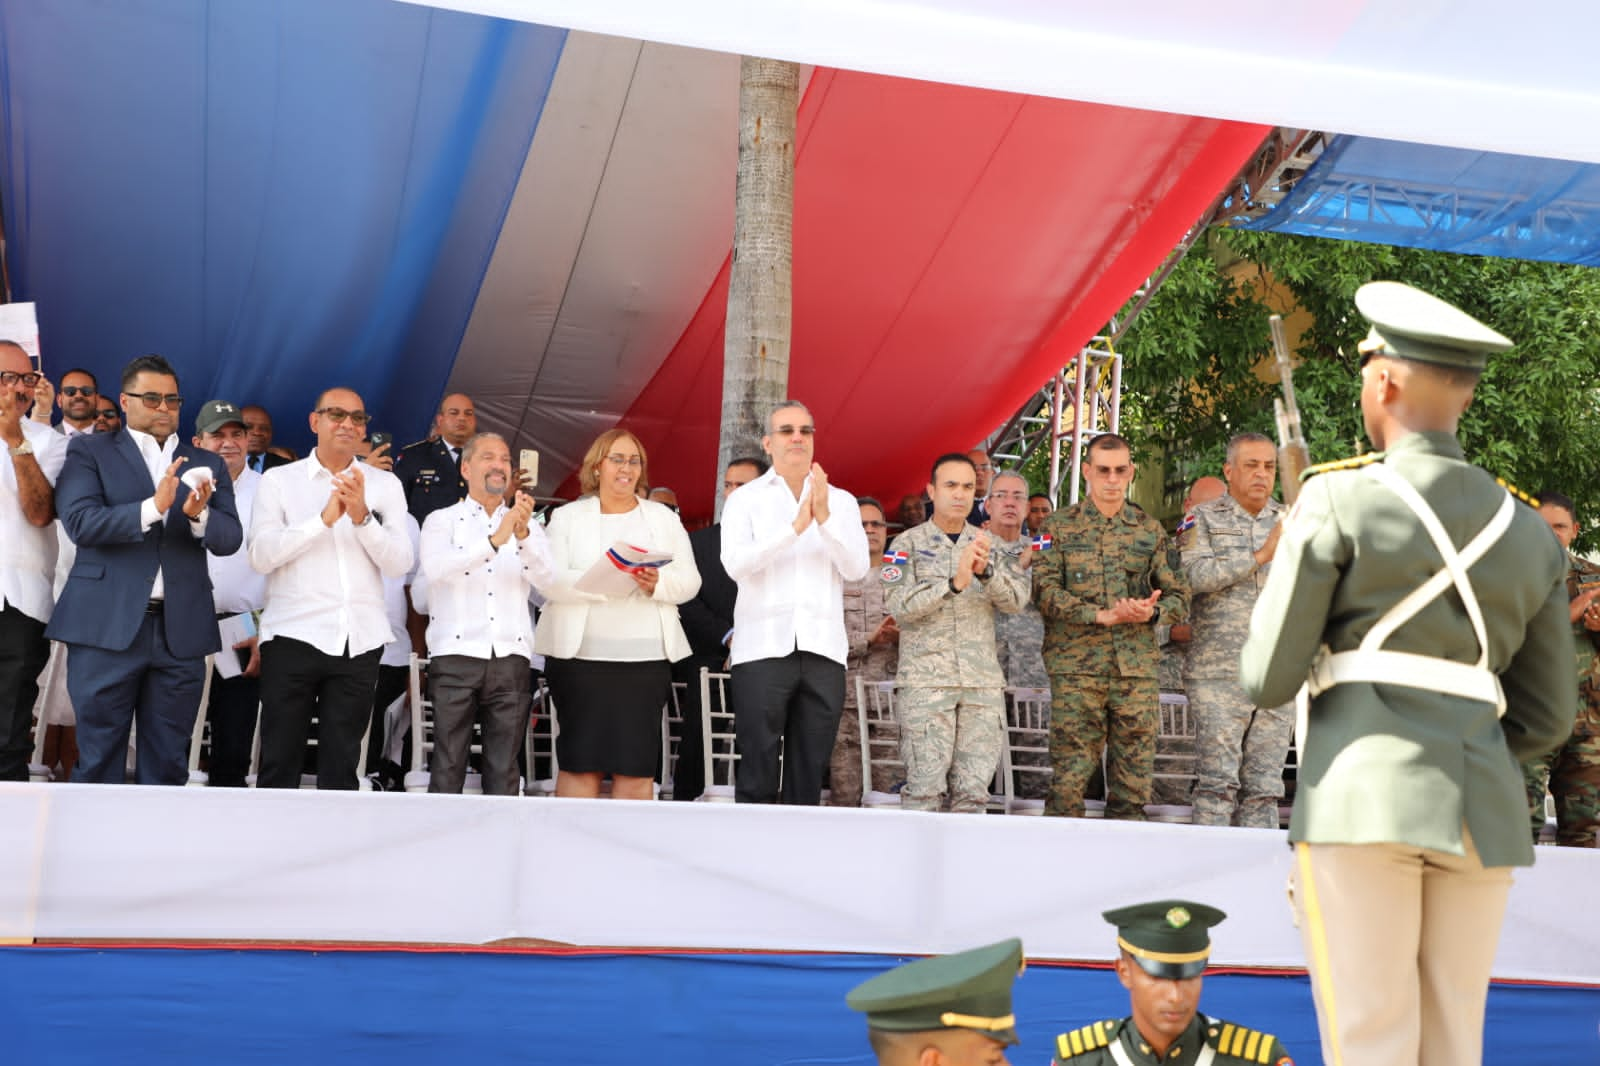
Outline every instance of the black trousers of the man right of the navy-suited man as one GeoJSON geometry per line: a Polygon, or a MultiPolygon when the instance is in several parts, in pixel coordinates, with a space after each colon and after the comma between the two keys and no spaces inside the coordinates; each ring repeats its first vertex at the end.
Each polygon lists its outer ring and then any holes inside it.
{"type": "Polygon", "coordinates": [[[382,648],[328,655],[304,640],[274,637],[261,645],[262,789],[298,789],[306,739],[317,720],[317,787],[354,791],[362,736],[373,712],[382,648]]]}

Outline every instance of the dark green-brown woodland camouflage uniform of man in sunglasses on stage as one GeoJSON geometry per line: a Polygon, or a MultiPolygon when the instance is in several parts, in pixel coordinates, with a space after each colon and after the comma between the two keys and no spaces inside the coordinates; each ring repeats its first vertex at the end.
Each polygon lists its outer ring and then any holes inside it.
{"type": "Polygon", "coordinates": [[[1050,515],[1045,531],[1051,546],[1034,560],[1051,691],[1045,813],[1083,816],[1083,791],[1104,751],[1106,816],[1144,820],[1160,723],[1155,626],[1179,623],[1189,610],[1178,547],[1131,503],[1110,517],[1093,501],[1077,503],[1050,515]],[[1162,599],[1150,623],[1094,623],[1096,611],[1154,589],[1162,599]]]}

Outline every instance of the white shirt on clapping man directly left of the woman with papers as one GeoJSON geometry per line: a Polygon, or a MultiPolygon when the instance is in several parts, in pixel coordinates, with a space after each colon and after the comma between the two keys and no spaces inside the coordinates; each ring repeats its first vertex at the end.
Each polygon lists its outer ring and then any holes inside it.
{"type": "Polygon", "coordinates": [[[427,575],[429,655],[520,655],[533,661],[528,597],[534,584],[555,578],[550,544],[538,522],[528,536],[496,549],[490,535],[506,517],[472,496],[442,507],[422,523],[422,573],[427,575]]]}

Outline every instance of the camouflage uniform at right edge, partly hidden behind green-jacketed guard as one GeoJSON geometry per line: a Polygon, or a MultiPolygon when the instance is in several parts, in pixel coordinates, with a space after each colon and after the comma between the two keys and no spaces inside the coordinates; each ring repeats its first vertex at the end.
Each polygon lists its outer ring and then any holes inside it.
{"type": "MultiPolygon", "coordinates": [[[[1574,599],[1600,579],[1600,567],[1568,552],[1566,599],[1574,599]]],[[[1549,781],[1555,797],[1555,842],[1562,847],[1592,848],[1600,829],[1600,632],[1573,623],[1578,669],[1578,722],[1565,744],[1549,755],[1523,763],[1528,784],[1528,818],[1533,839],[1544,829],[1544,789],[1549,781]]]]}

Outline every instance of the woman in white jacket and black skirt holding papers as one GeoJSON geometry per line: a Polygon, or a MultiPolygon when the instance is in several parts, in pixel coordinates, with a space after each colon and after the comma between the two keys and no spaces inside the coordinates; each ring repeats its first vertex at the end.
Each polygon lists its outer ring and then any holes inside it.
{"type": "Polygon", "coordinates": [[[557,795],[650,799],[670,663],[690,653],[678,603],[699,571],[677,512],[645,499],[645,447],[626,429],[589,445],[584,495],[550,515],[555,584],[534,650],[560,719],[557,795]]]}

